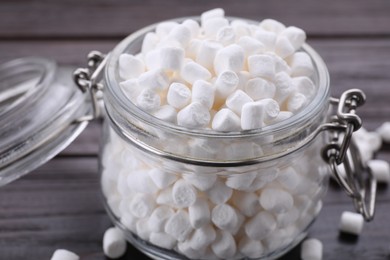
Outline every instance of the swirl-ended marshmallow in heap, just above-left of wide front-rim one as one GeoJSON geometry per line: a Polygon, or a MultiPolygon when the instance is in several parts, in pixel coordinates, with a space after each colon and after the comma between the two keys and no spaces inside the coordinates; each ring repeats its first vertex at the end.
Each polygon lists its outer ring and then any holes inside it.
{"type": "Polygon", "coordinates": [[[167,102],[176,109],[182,109],[191,101],[191,90],[184,84],[173,82],[168,89],[167,102]]]}

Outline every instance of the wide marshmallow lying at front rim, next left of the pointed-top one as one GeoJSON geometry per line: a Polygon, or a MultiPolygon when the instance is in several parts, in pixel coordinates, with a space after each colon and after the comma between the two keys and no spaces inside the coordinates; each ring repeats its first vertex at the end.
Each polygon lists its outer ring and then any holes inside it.
{"type": "Polygon", "coordinates": [[[177,113],[177,124],[190,129],[205,127],[209,122],[209,110],[199,102],[191,103],[177,113]]]}

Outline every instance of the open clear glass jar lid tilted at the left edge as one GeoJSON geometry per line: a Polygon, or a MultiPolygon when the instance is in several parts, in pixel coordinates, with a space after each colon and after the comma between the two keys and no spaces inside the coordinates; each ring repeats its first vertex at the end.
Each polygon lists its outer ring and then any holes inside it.
{"type": "Polygon", "coordinates": [[[90,111],[73,68],[43,58],[0,65],[0,186],[44,164],[86,127],[90,111]]]}

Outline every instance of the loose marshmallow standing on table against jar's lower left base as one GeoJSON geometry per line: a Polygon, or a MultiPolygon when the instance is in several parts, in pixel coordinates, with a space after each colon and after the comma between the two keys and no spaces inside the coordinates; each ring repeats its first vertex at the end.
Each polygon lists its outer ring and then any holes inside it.
{"type": "MultiPolygon", "coordinates": [[[[119,258],[125,254],[127,249],[126,239],[121,230],[112,227],[104,232],[103,252],[109,258],[119,258]]],[[[78,258],[77,258],[78,259],[78,258]]]]}

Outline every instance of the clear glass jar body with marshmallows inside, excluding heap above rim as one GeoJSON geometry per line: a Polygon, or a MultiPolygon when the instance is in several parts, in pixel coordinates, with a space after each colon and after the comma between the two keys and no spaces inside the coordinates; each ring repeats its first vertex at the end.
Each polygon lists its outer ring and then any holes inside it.
{"type": "Polygon", "coordinates": [[[243,132],[189,130],[142,111],[119,87],[120,54],[139,53],[155,27],[124,39],[106,63],[100,171],[110,217],[154,259],[277,258],[305,237],[328,185],[324,62],[303,46],[317,91],[291,118],[243,132]]]}

